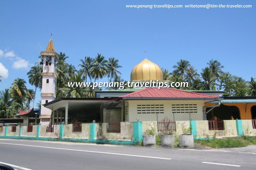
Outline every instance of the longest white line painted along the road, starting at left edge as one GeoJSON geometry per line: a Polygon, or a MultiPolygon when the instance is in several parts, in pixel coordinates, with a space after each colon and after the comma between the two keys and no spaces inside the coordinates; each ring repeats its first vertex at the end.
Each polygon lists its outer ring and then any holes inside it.
{"type": "MultiPolygon", "coordinates": [[[[0,144],[8,144],[8,143],[0,143],[0,144]]],[[[31,147],[38,147],[38,148],[50,148],[50,149],[60,149],[60,150],[68,150],[68,151],[81,151],[81,152],[105,153],[105,154],[112,154],[112,155],[124,155],[124,156],[135,156],[135,157],[143,157],[143,158],[155,158],[155,159],[167,159],[167,160],[171,160],[171,158],[161,158],[161,157],[151,157],[151,156],[141,156],[141,155],[129,155],[129,154],[123,154],[123,153],[85,151],[85,150],[77,150],[77,149],[53,148],[53,147],[34,146],[34,145],[26,145],[26,144],[12,144],[12,145],[31,146],[31,147]]]]}

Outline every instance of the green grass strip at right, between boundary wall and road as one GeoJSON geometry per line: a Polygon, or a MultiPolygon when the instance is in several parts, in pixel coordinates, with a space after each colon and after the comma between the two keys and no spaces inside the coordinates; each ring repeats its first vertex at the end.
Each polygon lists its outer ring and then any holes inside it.
{"type": "Polygon", "coordinates": [[[256,144],[256,137],[234,137],[223,139],[194,139],[194,143],[212,148],[240,148],[247,145],[256,144]]]}

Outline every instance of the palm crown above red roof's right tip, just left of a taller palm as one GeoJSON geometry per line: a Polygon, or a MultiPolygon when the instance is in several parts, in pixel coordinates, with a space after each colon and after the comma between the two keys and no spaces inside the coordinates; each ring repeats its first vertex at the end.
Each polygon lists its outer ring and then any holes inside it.
{"type": "Polygon", "coordinates": [[[205,67],[204,69],[202,69],[201,76],[204,80],[202,81],[203,90],[216,90],[216,86],[218,86],[218,84],[216,83],[217,78],[212,73],[212,70],[209,67],[205,67]]]}

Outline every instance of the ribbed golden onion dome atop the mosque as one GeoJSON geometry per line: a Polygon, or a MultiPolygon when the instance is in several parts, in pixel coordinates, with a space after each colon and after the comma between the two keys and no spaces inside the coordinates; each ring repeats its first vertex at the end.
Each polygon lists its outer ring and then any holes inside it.
{"type": "Polygon", "coordinates": [[[158,65],[144,59],[132,69],[132,80],[163,80],[163,72],[158,65]]]}

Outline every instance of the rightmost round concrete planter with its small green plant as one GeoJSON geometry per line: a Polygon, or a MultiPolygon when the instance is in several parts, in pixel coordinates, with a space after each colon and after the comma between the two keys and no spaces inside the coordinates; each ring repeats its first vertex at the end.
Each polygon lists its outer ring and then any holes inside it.
{"type": "Polygon", "coordinates": [[[182,127],[183,134],[179,135],[179,145],[180,147],[193,147],[194,146],[194,136],[190,134],[192,127],[189,128],[182,127]]]}

